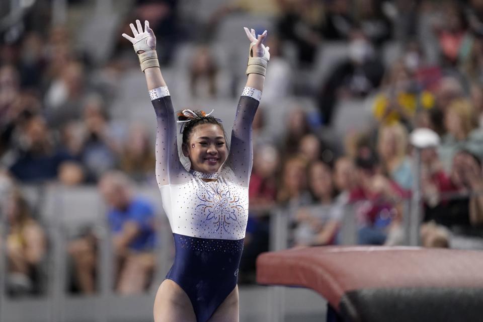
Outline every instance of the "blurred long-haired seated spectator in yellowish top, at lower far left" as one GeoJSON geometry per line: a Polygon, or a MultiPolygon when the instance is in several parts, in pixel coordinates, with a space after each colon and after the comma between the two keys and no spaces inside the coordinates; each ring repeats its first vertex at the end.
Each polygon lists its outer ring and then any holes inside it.
{"type": "Polygon", "coordinates": [[[12,295],[38,293],[40,265],[47,248],[44,231],[32,217],[27,200],[19,190],[14,190],[8,199],[6,215],[7,290],[12,295]]]}

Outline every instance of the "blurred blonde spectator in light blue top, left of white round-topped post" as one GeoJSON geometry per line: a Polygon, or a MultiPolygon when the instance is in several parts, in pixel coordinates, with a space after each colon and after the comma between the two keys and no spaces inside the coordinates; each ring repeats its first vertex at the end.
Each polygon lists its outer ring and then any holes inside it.
{"type": "Polygon", "coordinates": [[[410,190],[413,187],[413,172],[407,149],[408,131],[403,125],[395,123],[379,129],[377,152],[384,172],[399,187],[410,190]]]}

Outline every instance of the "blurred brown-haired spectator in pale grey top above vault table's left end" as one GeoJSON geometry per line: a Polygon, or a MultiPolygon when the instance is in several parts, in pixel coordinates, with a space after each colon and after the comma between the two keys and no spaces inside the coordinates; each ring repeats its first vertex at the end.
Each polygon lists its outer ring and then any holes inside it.
{"type": "Polygon", "coordinates": [[[298,210],[294,243],[296,246],[334,244],[342,212],[334,203],[332,171],[327,164],[315,161],[309,167],[308,178],[315,204],[298,210]]]}

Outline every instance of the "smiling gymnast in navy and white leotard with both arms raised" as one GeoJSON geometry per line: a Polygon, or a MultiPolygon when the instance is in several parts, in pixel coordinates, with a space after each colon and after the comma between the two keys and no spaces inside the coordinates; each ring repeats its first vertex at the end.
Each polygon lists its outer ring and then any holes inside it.
{"type": "Polygon", "coordinates": [[[203,111],[175,113],[159,69],[156,38],[145,21],[130,24],[133,43],[157,119],[156,180],[175,241],[175,262],[154,300],[154,321],[238,321],[238,265],[248,219],[248,185],[252,171],[252,121],[262,97],[269,47],[267,31],[251,42],[247,85],[241,94],[230,145],[220,120],[203,111]],[[137,27],[137,28],[136,28],[137,27]]]}

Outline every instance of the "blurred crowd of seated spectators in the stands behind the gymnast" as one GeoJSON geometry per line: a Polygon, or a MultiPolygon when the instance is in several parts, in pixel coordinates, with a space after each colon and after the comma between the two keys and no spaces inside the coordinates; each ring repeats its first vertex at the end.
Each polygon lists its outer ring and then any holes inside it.
{"type": "MultiPolygon", "coordinates": [[[[221,76],[236,84],[241,75],[223,69],[209,35],[234,15],[273,22],[272,59],[253,124],[240,282],[252,280],[257,255],[269,248],[274,209],[288,217],[291,247],[342,243],[347,216],[356,221],[358,244],[404,245],[403,221],[416,181],[424,203],[423,246],[458,248],[468,245],[461,240],[483,238],[483,1],[237,0],[194,21],[182,15],[182,0],[130,6],[107,62],[97,62],[67,26],[53,26],[38,12],[24,17],[17,37],[2,35],[0,191],[12,294],[37,292],[38,267],[48,251],[41,216],[21,188],[49,183],[97,187],[113,232],[116,290],[136,293],[149,283],[154,211],[129,187],[156,189],[155,133],[111,117],[117,80],[137,68],[130,43],[120,37],[133,19],[150,21],[162,70],[173,66],[183,43],[195,45],[187,95],[213,100],[223,95],[221,76]],[[319,53],[330,44],[343,44],[344,55],[325,65],[322,76],[319,53]],[[397,50],[388,54],[389,47],[397,50]],[[267,120],[277,113],[271,102],[290,97],[308,99],[314,108],[291,106],[284,132],[271,135],[267,120]],[[334,139],[334,120],[347,100],[358,100],[361,109],[370,103],[371,126],[334,139]],[[413,177],[409,142],[416,128],[440,137],[437,146],[421,151],[420,178],[413,177]]],[[[73,291],[96,291],[96,240],[87,231],[67,248],[73,291]]]]}

